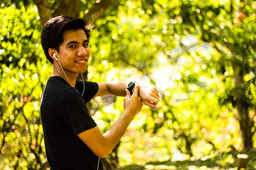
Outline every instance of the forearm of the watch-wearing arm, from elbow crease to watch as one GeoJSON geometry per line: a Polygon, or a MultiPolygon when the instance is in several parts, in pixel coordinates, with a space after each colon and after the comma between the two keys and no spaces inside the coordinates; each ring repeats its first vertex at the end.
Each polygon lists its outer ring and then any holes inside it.
{"type": "Polygon", "coordinates": [[[108,82],[108,90],[115,96],[125,96],[125,89],[128,86],[128,82],[108,82]]]}

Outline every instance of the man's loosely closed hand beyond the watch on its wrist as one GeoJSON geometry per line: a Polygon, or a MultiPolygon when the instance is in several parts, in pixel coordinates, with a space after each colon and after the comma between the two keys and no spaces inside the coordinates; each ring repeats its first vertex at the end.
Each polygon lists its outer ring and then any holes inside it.
{"type": "Polygon", "coordinates": [[[157,91],[157,88],[155,87],[147,88],[147,87],[140,86],[139,96],[145,105],[155,110],[158,109],[156,106],[159,102],[159,92],[157,91]]]}

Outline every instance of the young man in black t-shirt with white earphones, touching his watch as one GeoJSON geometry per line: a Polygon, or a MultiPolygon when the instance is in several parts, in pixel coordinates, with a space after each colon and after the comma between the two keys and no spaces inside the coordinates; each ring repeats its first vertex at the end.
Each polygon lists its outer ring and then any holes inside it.
{"type": "Polygon", "coordinates": [[[49,20],[42,31],[44,53],[53,63],[53,73],[40,105],[46,154],[52,170],[102,170],[99,158],[105,157],[119,142],[143,102],[157,109],[156,88],[132,83],[135,87],[127,90],[126,82],[96,83],[76,79],[87,68],[91,28],[81,18],[59,16],[49,20]],[[88,113],[86,103],[95,96],[108,94],[125,96],[124,112],[102,134],[88,113]]]}

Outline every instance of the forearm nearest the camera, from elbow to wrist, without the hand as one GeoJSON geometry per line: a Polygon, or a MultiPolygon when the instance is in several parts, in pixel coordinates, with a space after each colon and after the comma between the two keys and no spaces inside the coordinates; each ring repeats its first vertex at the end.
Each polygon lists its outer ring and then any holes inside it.
{"type": "Polygon", "coordinates": [[[116,146],[133,119],[134,116],[124,112],[116,123],[106,133],[104,133],[104,148],[106,150],[105,155],[110,153],[111,150],[116,146]]]}

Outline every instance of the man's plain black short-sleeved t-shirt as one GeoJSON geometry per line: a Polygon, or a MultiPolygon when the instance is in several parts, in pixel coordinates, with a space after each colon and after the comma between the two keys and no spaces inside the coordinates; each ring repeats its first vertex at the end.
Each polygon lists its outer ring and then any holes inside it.
{"type": "MultiPolygon", "coordinates": [[[[51,170],[97,170],[99,157],[77,135],[97,126],[86,103],[98,89],[96,82],[84,81],[83,85],[81,80],[76,80],[73,88],[61,77],[49,78],[40,108],[51,170]]],[[[99,170],[103,170],[101,161],[99,170]]]]}

